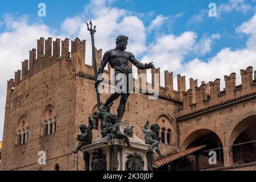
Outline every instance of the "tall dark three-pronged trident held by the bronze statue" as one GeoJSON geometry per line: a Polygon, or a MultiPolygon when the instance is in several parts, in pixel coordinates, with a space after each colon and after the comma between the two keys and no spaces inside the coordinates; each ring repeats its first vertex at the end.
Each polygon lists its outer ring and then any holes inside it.
{"type": "MultiPolygon", "coordinates": [[[[97,81],[97,65],[96,65],[96,54],[95,54],[95,44],[94,44],[94,33],[96,32],[96,26],[93,26],[92,21],[90,21],[89,24],[86,22],[86,24],[87,24],[87,30],[90,31],[90,38],[92,39],[94,77],[95,77],[95,81],[97,81]]],[[[96,89],[96,95],[97,95],[97,105],[98,105],[98,109],[99,109],[100,105],[101,105],[101,101],[100,101],[100,93],[98,93],[97,89],[96,89]]]]}

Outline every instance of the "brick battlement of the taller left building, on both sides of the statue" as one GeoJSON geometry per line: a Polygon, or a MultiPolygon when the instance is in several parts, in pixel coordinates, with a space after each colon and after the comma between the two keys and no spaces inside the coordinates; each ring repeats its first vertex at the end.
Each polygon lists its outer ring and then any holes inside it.
{"type": "MultiPolygon", "coordinates": [[[[19,85],[20,82],[32,77],[36,73],[46,69],[47,67],[55,64],[59,61],[64,61],[63,63],[67,63],[72,66],[72,71],[76,72],[78,75],[86,77],[94,78],[94,64],[92,60],[92,64],[85,64],[85,47],[86,40],[80,40],[76,38],[75,40],[70,41],[68,38],[64,40],[56,39],[52,40],[52,38],[44,39],[40,38],[37,40],[37,48],[32,48],[29,51],[29,59],[22,61],[22,70],[18,70],[15,72],[14,82],[8,82],[8,93],[11,94],[13,90],[19,85]],[[69,45],[71,44],[71,45],[69,45]],[[71,49],[70,49],[71,47],[71,49]],[[10,88],[14,88],[10,90],[10,88]]],[[[97,68],[100,66],[102,60],[102,49],[96,49],[96,65],[97,68]]],[[[131,67],[131,63],[129,63],[131,67]]],[[[108,70],[105,70],[105,73],[110,76],[110,65],[108,64],[108,70]]],[[[146,70],[138,69],[138,76],[144,73],[145,79],[147,82],[146,70]]],[[[185,92],[185,76],[177,75],[177,90],[174,90],[174,76],[173,73],[164,71],[164,86],[160,86],[160,68],[152,68],[151,69],[151,78],[152,82],[147,82],[149,87],[154,86],[159,87],[159,96],[163,98],[167,98],[170,100],[174,100],[176,102],[181,103],[183,100],[183,92],[185,92]],[[157,73],[158,75],[155,75],[157,73]],[[156,79],[155,76],[158,78],[156,79]],[[154,80],[158,80],[158,85],[154,85],[154,80]]],[[[142,82],[142,78],[134,78],[134,82],[142,82]]],[[[195,82],[195,85],[197,83],[195,82]]],[[[136,87],[136,86],[135,86],[136,87]]],[[[142,84],[139,84],[135,88],[137,90],[143,90],[144,92],[150,94],[152,90],[143,89],[142,84]]],[[[148,87],[147,87],[148,88],[148,87]]]]}

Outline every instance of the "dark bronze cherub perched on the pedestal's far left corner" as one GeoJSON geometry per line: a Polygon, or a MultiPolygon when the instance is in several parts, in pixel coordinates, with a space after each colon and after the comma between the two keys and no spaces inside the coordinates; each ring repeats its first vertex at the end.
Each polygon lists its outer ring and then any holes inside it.
{"type": "Polygon", "coordinates": [[[88,127],[86,127],[86,125],[84,124],[79,126],[81,134],[77,135],[76,137],[77,141],[79,141],[79,144],[77,145],[76,149],[73,151],[74,153],[77,153],[77,151],[81,150],[82,146],[86,146],[92,143],[92,130],[95,127],[96,126],[94,125],[94,120],[90,116],[89,116],[88,127]]]}

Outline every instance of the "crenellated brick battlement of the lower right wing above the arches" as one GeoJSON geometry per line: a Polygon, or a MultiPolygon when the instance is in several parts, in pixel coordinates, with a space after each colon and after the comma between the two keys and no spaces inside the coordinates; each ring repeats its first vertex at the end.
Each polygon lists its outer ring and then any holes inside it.
{"type": "Polygon", "coordinates": [[[222,91],[219,78],[208,84],[203,81],[199,87],[197,81],[191,78],[189,80],[190,88],[187,92],[183,92],[183,108],[178,112],[179,117],[185,117],[191,113],[197,113],[256,93],[253,67],[248,67],[246,70],[241,69],[240,73],[242,84],[236,85],[236,73],[231,73],[229,76],[224,76],[225,88],[222,91]]]}

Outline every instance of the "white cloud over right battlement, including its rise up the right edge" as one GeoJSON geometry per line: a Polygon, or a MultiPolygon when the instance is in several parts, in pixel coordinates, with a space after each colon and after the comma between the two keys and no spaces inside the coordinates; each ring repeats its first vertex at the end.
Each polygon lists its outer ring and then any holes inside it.
{"type": "MultiPolygon", "coordinates": [[[[249,36],[246,47],[243,49],[232,50],[224,48],[209,60],[193,59],[183,65],[179,72],[186,75],[187,78],[193,77],[199,81],[214,81],[221,79],[221,88],[225,87],[224,75],[237,73],[237,85],[241,84],[240,69],[246,69],[249,66],[256,67],[256,14],[236,28],[238,33],[249,36]]],[[[218,36],[214,36],[218,38],[218,36]]],[[[188,79],[187,79],[188,83],[188,79]]]]}

